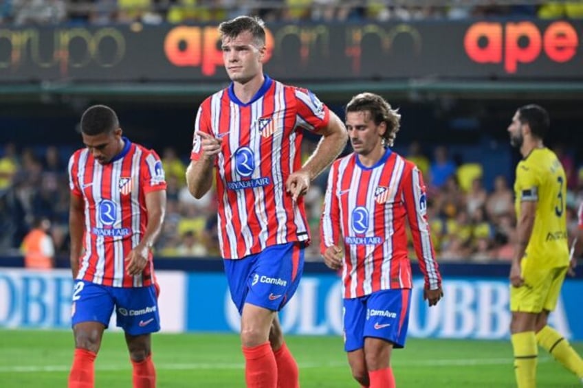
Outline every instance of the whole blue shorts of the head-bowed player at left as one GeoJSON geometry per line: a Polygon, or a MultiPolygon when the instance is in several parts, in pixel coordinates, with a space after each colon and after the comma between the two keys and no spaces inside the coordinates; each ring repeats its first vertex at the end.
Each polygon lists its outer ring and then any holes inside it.
{"type": "Polygon", "coordinates": [[[100,322],[107,328],[115,307],[117,325],[131,335],[160,330],[158,301],[154,285],[122,288],[76,280],[73,290],[72,326],[100,322]]]}

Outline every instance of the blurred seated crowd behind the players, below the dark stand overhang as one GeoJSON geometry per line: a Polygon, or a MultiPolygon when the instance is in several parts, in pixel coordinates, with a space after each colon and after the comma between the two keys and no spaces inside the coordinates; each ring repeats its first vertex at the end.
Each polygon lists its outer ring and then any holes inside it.
{"type": "MultiPolygon", "coordinates": [[[[304,142],[304,155],[316,144],[304,142]]],[[[553,148],[569,179],[567,195],[570,235],[577,227],[577,205],[583,201],[583,166],[577,167],[572,152],[553,148]]],[[[428,216],[437,255],[441,260],[483,262],[510,260],[515,243],[514,193],[507,176],[483,182],[480,163],[463,163],[435,146],[426,155],[417,142],[404,156],[414,161],[428,186],[428,216]],[[456,160],[454,160],[456,159],[456,160]],[[492,187],[487,190],[486,187],[492,187]]],[[[197,200],[185,181],[188,155],[173,148],[159,150],[166,181],[168,206],[164,231],[156,244],[158,256],[218,257],[216,198],[211,191],[197,200]]],[[[68,255],[69,185],[67,152],[56,146],[42,149],[7,144],[0,152],[0,252],[18,253],[26,234],[39,220],[50,220],[48,233],[56,255],[68,255]]],[[[313,243],[308,260],[320,260],[319,231],[322,198],[327,174],[316,179],[305,196],[313,243]]],[[[412,249],[412,247],[411,247],[412,249]]],[[[411,257],[415,257],[411,252],[411,257]]]]}

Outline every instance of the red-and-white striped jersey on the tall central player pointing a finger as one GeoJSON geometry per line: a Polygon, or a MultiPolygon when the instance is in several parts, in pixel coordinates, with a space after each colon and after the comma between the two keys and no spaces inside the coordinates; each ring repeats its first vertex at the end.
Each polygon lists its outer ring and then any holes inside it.
{"type": "Polygon", "coordinates": [[[285,192],[301,167],[303,130],[327,126],[329,110],[306,89],[265,77],[245,104],[232,85],[199,107],[190,159],[201,155],[197,131],[223,139],[215,159],[221,254],[240,259],[274,244],[309,242],[303,198],[285,192]]]}

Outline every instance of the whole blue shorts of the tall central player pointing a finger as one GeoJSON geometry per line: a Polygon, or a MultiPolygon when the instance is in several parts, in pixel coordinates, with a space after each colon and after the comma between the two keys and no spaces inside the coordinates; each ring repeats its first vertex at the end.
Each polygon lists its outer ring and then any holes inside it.
{"type": "Polygon", "coordinates": [[[223,260],[231,299],[239,314],[245,303],[281,310],[298,289],[304,251],[303,242],[289,242],[239,260],[223,260]]]}

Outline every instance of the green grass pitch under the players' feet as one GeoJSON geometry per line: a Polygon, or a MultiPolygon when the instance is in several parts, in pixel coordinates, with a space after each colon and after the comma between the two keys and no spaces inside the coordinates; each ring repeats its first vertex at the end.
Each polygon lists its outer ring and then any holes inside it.
{"type": "MultiPolygon", "coordinates": [[[[302,388],[358,387],[340,337],[287,336],[300,365],[302,388]]],[[[234,334],[155,334],[159,388],[243,384],[243,356],[234,334]]],[[[583,343],[575,349],[583,354],[583,343]]],[[[66,387],[73,352],[67,331],[0,330],[0,387],[66,387]]],[[[432,388],[514,387],[507,341],[409,339],[393,352],[397,386],[432,388]]],[[[538,387],[581,387],[575,376],[539,353],[538,387]]],[[[106,332],[96,361],[96,387],[131,387],[131,366],[122,334],[106,332]]]]}

